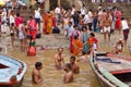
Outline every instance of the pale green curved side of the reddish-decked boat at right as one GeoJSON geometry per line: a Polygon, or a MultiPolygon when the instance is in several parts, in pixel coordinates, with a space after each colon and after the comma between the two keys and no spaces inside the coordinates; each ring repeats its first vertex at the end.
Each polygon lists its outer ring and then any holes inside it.
{"type": "Polygon", "coordinates": [[[111,73],[99,67],[93,55],[91,55],[90,63],[102,87],[129,87],[115,77],[111,73]]]}

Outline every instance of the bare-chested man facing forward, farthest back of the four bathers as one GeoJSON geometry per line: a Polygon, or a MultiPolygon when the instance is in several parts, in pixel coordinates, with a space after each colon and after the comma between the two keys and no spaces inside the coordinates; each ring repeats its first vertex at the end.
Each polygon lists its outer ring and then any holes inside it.
{"type": "Polygon", "coordinates": [[[64,59],[62,57],[63,48],[58,48],[58,53],[55,55],[55,65],[58,70],[62,70],[64,65],[64,59]]]}

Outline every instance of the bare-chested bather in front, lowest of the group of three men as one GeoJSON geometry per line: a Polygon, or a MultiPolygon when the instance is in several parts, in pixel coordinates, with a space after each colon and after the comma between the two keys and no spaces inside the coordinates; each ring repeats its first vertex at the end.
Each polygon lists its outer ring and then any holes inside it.
{"type": "Polygon", "coordinates": [[[63,77],[63,82],[67,83],[71,83],[73,82],[73,72],[72,72],[72,67],[70,63],[66,64],[64,71],[67,72],[64,77],[63,77]]]}

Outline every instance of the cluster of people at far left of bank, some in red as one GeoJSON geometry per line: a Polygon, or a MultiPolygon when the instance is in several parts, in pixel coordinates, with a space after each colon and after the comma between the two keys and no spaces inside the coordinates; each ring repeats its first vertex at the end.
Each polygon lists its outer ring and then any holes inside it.
{"type": "Polygon", "coordinates": [[[15,49],[15,39],[20,39],[21,51],[26,51],[27,55],[36,54],[35,39],[38,29],[33,16],[28,16],[28,21],[25,21],[19,12],[3,9],[0,16],[0,35],[7,34],[8,29],[10,30],[12,49],[15,49]]]}

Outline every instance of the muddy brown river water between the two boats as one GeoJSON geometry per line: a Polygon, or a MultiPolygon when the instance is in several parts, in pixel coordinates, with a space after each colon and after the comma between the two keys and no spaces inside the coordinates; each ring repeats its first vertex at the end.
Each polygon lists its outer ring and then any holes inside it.
{"type": "MultiPolygon", "coordinates": [[[[44,50],[39,51],[36,57],[26,57],[24,52],[10,52],[11,57],[25,61],[27,64],[27,72],[22,87],[100,87],[88,62],[79,62],[80,74],[74,75],[73,83],[63,84],[62,78],[64,71],[57,71],[53,64],[53,55],[56,52],[57,50],[44,50]],[[32,84],[32,71],[37,61],[44,64],[41,70],[44,82],[36,86],[32,84]]],[[[70,52],[64,50],[63,57],[66,62],[69,62],[70,52]]]]}

